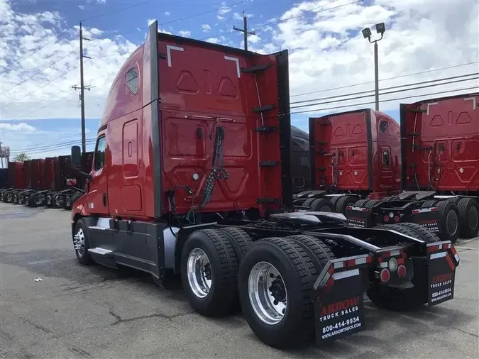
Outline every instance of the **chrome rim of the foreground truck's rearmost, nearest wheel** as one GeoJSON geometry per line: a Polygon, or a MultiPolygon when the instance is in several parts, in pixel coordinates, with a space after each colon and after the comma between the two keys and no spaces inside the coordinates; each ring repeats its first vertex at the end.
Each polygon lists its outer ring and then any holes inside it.
{"type": "Polygon", "coordinates": [[[254,265],[248,277],[250,304],[263,323],[275,325],[285,317],[287,291],[280,272],[268,262],[254,265]]]}

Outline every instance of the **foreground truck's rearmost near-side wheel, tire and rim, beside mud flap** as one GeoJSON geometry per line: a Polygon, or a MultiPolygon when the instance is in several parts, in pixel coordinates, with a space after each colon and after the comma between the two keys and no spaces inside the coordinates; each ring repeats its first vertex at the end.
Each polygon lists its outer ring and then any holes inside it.
{"type": "Polygon", "coordinates": [[[317,275],[295,241],[265,238],[251,246],[239,268],[238,293],[246,321],[263,343],[292,348],[312,341],[317,275]]]}

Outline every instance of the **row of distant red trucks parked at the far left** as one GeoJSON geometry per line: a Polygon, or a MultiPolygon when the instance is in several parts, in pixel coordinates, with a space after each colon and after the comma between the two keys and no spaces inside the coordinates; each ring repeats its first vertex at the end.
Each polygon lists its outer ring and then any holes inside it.
{"type": "MultiPolygon", "coordinates": [[[[83,169],[92,166],[93,153],[82,155],[83,169]]],[[[72,172],[70,155],[9,162],[6,181],[0,189],[0,201],[72,209],[83,192],[84,177],[72,172]]]]}

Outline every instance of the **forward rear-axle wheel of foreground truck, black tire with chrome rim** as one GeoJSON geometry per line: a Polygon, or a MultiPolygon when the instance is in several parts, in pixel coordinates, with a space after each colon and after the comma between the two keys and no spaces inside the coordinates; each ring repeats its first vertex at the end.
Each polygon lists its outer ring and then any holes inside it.
{"type": "Polygon", "coordinates": [[[219,233],[191,233],[182,248],[181,278],[189,304],[203,316],[227,314],[237,295],[238,262],[219,233]]]}

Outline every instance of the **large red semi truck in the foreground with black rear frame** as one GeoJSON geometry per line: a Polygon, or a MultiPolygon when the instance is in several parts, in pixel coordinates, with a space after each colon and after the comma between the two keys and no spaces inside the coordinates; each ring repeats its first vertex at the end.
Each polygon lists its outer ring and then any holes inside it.
{"type": "Polygon", "coordinates": [[[452,299],[456,250],[421,226],[291,211],[288,76],[286,50],[259,55],[153,22],[111,86],[92,171],[79,172],[79,263],[180,275],[198,313],[239,303],[278,348],[362,330],[364,292],[390,309],[452,299]],[[436,285],[440,275],[450,280],[436,285]]]}

